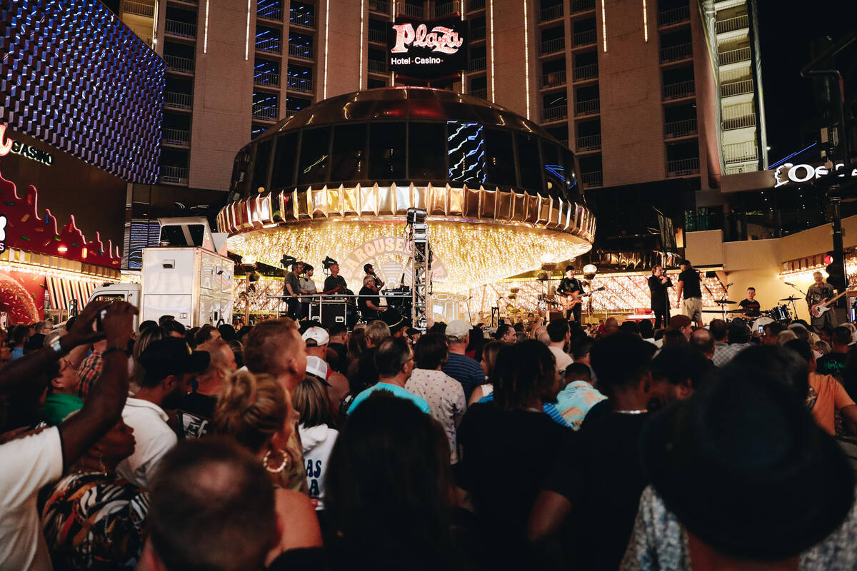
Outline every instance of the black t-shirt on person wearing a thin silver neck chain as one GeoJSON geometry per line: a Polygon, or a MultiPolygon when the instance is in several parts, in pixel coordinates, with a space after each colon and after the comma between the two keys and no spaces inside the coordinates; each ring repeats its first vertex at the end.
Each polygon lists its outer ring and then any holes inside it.
{"type": "Polygon", "coordinates": [[[638,440],[648,416],[610,413],[589,419],[561,449],[544,488],[572,503],[572,568],[619,568],[646,482],[638,440]]]}

